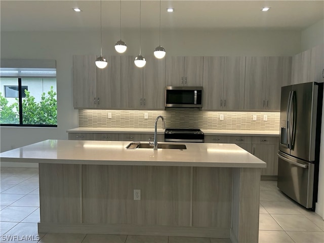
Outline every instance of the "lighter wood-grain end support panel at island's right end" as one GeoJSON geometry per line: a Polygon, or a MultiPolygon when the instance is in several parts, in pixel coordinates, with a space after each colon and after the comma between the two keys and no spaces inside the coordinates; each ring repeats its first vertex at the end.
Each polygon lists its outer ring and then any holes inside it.
{"type": "Polygon", "coordinates": [[[231,241],[257,243],[259,238],[260,168],[233,169],[231,241]]]}

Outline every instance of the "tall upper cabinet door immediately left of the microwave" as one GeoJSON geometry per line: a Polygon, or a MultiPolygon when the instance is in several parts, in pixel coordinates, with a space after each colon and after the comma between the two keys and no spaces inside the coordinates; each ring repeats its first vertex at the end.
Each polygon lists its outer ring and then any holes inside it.
{"type": "Polygon", "coordinates": [[[147,57],[143,72],[143,108],[164,109],[166,59],[147,57]]]}

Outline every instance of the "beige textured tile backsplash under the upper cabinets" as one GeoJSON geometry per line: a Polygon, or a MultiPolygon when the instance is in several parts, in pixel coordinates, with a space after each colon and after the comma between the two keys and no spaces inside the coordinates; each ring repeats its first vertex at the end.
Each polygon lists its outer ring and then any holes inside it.
{"type": "MultiPolygon", "coordinates": [[[[163,115],[167,128],[215,130],[279,130],[279,112],[202,111],[198,109],[167,110],[79,110],[79,127],[154,128],[155,119],[163,115]],[[108,119],[108,113],[111,118],[108,119]],[[144,113],[148,118],[144,119],[144,113]],[[224,120],[220,120],[220,115],[224,120]],[[253,120],[253,115],[257,120],[253,120]],[[265,121],[264,115],[267,115],[265,121]]],[[[161,121],[158,121],[162,128],[161,121]]]]}

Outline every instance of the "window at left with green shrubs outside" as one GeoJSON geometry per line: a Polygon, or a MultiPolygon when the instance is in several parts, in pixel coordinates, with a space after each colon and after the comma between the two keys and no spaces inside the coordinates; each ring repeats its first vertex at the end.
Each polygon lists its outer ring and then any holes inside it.
{"type": "Polygon", "coordinates": [[[37,60],[31,66],[41,68],[8,68],[3,63],[1,60],[0,126],[57,127],[56,68],[44,68],[37,60]]]}

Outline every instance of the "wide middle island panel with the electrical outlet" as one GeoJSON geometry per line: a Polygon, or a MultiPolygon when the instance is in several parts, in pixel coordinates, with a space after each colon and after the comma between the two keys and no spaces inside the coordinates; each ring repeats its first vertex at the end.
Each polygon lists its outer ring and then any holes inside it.
{"type": "Polygon", "coordinates": [[[190,167],[83,166],[83,223],[189,226],[190,210],[190,167]]]}

